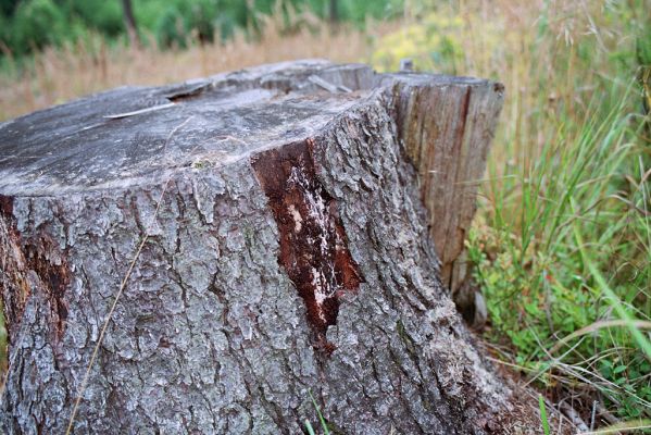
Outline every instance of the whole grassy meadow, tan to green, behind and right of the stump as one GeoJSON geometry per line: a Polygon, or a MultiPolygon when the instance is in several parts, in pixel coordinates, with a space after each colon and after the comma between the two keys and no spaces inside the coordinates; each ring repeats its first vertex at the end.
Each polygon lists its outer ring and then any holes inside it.
{"type": "Polygon", "coordinates": [[[336,30],[326,2],[299,3],[266,2],[254,25],[234,18],[228,32],[212,20],[209,44],[176,12],[183,44],[165,42],[155,23],[168,18],[146,18],[143,7],[142,47],[89,29],[28,55],[5,50],[0,120],[113,86],[296,58],[380,71],[412,58],[421,71],[500,80],[505,107],[467,240],[484,337],[496,361],[588,425],[651,419],[651,1],[349,1],[336,30]]]}

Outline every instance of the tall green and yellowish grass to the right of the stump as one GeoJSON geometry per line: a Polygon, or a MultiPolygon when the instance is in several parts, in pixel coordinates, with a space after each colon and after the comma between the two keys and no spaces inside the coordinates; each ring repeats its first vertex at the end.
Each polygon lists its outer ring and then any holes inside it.
{"type": "Polygon", "coordinates": [[[468,240],[485,335],[552,398],[611,423],[651,415],[651,147],[636,82],[649,11],[649,0],[415,1],[374,55],[505,85],[468,240]]]}

